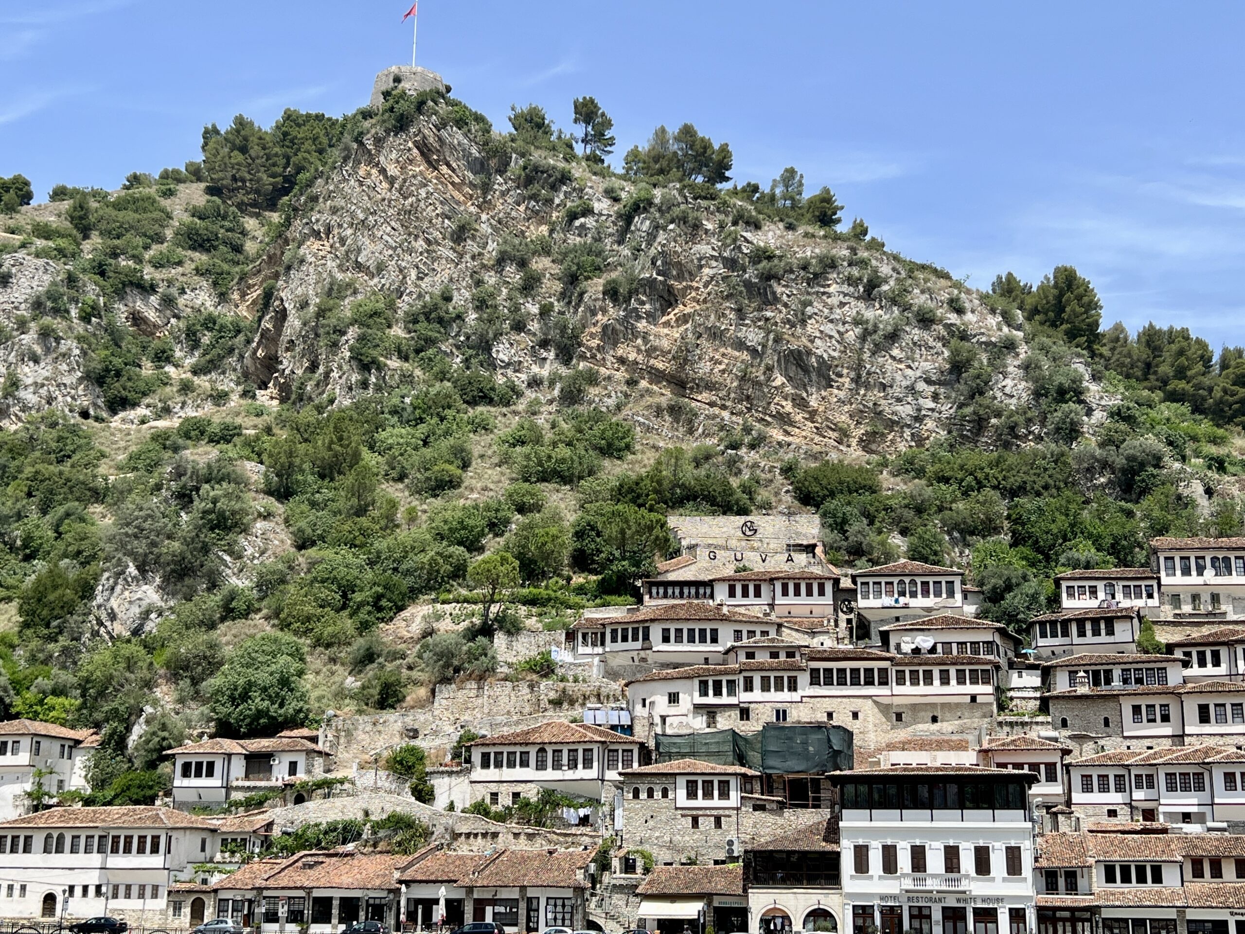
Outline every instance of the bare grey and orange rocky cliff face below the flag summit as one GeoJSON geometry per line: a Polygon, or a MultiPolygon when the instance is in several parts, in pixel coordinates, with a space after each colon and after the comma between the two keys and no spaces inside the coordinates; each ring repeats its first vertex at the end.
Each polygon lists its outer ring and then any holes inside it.
{"type": "MultiPolygon", "coordinates": [[[[558,335],[581,335],[579,361],[651,399],[688,400],[681,411],[712,431],[747,417],[827,452],[929,442],[955,416],[952,337],[991,359],[995,402],[1030,401],[1020,331],[941,270],[876,242],[754,225],[746,204],[695,200],[677,186],[645,200],[635,184],[548,156],[509,156],[502,169],[444,108],[360,142],[243,289],[260,315],[244,375],[283,397],[300,380],[341,400],[375,390],[383,371],[360,371],[347,352],[356,331],[317,341],[317,300],[346,283],[405,308],[449,285],[464,306],[477,296],[468,330],[491,326],[482,290],[505,304],[492,356],[520,385],[569,362],[558,335]],[[535,290],[520,290],[532,274],[522,280],[509,262],[515,242],[545,254],[532,259],[535,290]],[[563,269],[583,255],[604,270],[568,285],[563,269]],[[265,278],[275,286],[260,310],[265,278]]],[[[1111,400],[1091,386],[1089,401],[1111,400]]],[[[666,408],[652,408],[674,431],[666,408]]]]}

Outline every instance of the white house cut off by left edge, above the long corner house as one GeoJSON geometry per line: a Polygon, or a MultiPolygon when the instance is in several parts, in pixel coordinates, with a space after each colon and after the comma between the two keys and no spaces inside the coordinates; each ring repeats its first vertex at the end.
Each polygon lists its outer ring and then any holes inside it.
{"type": "Polygon", "coordinates": [[[52,796],[90,791],[83,773],[90,752],[82,743],[92,736],[40,720],[0,724],[0,819],[29,813],[36,785],[52,796]]]}

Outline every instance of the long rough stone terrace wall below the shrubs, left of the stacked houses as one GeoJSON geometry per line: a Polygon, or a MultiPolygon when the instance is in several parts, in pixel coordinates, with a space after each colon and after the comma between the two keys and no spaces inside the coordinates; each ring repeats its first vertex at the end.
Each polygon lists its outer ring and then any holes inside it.
{"type": "Polygon", "coordinates": [[[437,685],[422,710],[335,717],[324,730],[337,768],[370,765],[388,747],[418,741],[430,762],[443,762],[458,734],[471,727],[491,735],[548,720],[583,716],[589,704],[616,704],[622,691],[613,681],[466,681],[437,685]]]}

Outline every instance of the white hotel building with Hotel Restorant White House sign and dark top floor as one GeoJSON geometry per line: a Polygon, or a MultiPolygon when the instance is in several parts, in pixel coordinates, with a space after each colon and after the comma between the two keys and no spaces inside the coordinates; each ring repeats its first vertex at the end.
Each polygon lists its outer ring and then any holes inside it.
{"type": "Polygon", "coordinates": [[[1035,924],[1032,772],[900,766],[832,772],[844,925],[885,934],[1035,924]]]}

